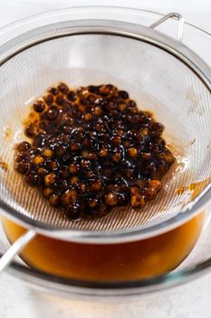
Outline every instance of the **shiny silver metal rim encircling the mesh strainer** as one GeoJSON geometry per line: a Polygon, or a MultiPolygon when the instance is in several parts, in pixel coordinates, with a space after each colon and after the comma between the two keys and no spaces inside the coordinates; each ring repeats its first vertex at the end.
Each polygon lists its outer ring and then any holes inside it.
{"type": "MultiPolygon", "coordinates": [[[[170,17],[180,15],[170,14],[170,17]]],[[[158,24],[157,24],[158,25],[158,24]]],[[[156,26],[156,25],[155,25],[156,26]]],[[[62,36],[72,35],[93,35],[105,34],[114,36],[124,36],[132,38],[136,41],[144,41],[150,45],[156,45],[158,48],[165,50],[170,55],[174,55],[177,59],[187,65],[211,91],[211,69],[208,65],[187,46],[181,42],[174,40],[167,35],[153,30],[151,27],[142,25],[133,25],[120,21],[109,20],[79,20],[79,21],[63,21],[52,25],[44,25],[34,28],[34,30],[26,32],[15,37],[1,47],[0,67],[8,60],[18,55],[29,47],[39,45],[43,42],[53,40],[62,36]],[[56,31],[55,31],[56,30],[56,31]]],[[[192,218],[207,203],[211,195],[211,184],[208,184],[204,191],[197,196],[197,199],[189,204],[186,212],[178,213],[176,216],[168,219],[161,224],[150,225],[149,227],[136,227],[129,229],[121,229],[116,231],[79,231],[54,229],[47,224],[19,214],[8,204],[0,200],[0,207],[3,213],[14,218],[19,224],[24,224],[29,228],[34,228],[39,234],[45,234],[59,239],[71,240],[72,242],[83,243],[121,243],[131,242],[138,239],[148,238],[169,231],[180,224],[185,223],[192,218]]]]}

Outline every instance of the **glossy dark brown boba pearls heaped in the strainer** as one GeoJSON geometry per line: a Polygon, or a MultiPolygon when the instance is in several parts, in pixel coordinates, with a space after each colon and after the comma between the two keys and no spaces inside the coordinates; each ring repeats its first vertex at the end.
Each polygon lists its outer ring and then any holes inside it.
{"type": "Polygon", "coordinates": [[[175,161],[164,126],[112,84],[49,88],[24,129],[16,171],[70,219],[101,217],[116,206],[143,209],[175,161]]]}

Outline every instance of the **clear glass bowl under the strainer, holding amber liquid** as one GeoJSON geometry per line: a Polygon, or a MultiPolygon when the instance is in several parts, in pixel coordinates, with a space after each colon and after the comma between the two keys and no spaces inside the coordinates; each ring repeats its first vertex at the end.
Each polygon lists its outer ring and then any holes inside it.
{"type": "MultiPolygon", "coordinates": [[[[142,11],[138,9],[122,8],[122,7],[72,7],[53,11],[43,15],[35,15],[33,17],[20,20],[0,30],[0,45],[4,45],[9,39],[14,39],[17,35],[24,35],[27,31],[32,31],[35,27],[50,25],[53,23],[62,23],[67,19],[104,19],[118,20],[121,22],[130,22],[139,25],[149,26],[156,22],[162,15],[157,13],[142,11]]],[[[158,29],[166,35],[177,38],[177,21],[168,20],[165,24],[159,25],[158,29]]],[[[185,24],[185,32],[183,42],[190,49],[195,51],[206,64],[211,65],[211,56],[209,55],[208,46],[210,45],[210,35],[193,25],[185,24]]],[[[9,47],[7,47],[9,49],[9,47]]],[[[8,267],[8,272],[19,277],[26,283],[35,288],[47,291],[48,293],[58,293],[69,295],[71,293],[91,294],[91,295],[113,295],[113,294],[133,294],[133,293],[149,293],[160,289],[168,288],[179,283],[185,283],[197,277],[201,273],[205,273],[211,266],[211,249],[208,243],[208,237],[211,234],[211,224],[209,218],[210,204],[205,210],[198,211],[204,214],[203,229],[197,240],[196,246],[182,262],[177,269],[163,274],[154,275],[148,278],[132,279],[127,281],[100,281],[100,280],[82,280],[61,277],[56,274],[44,273],[41,270],[28,267],[18,257],[8,267]]],[[[0,230],[0,253],[5,253],[9,243],[5,237],[3,227],[0,230]]],[[[190,250],[191,250],[190,249],[190,250]]],[[[190,252],[190,251],[189,251],[190,252]]],[[[132,268],[131,268],[132,270],[132,268]]]]}

